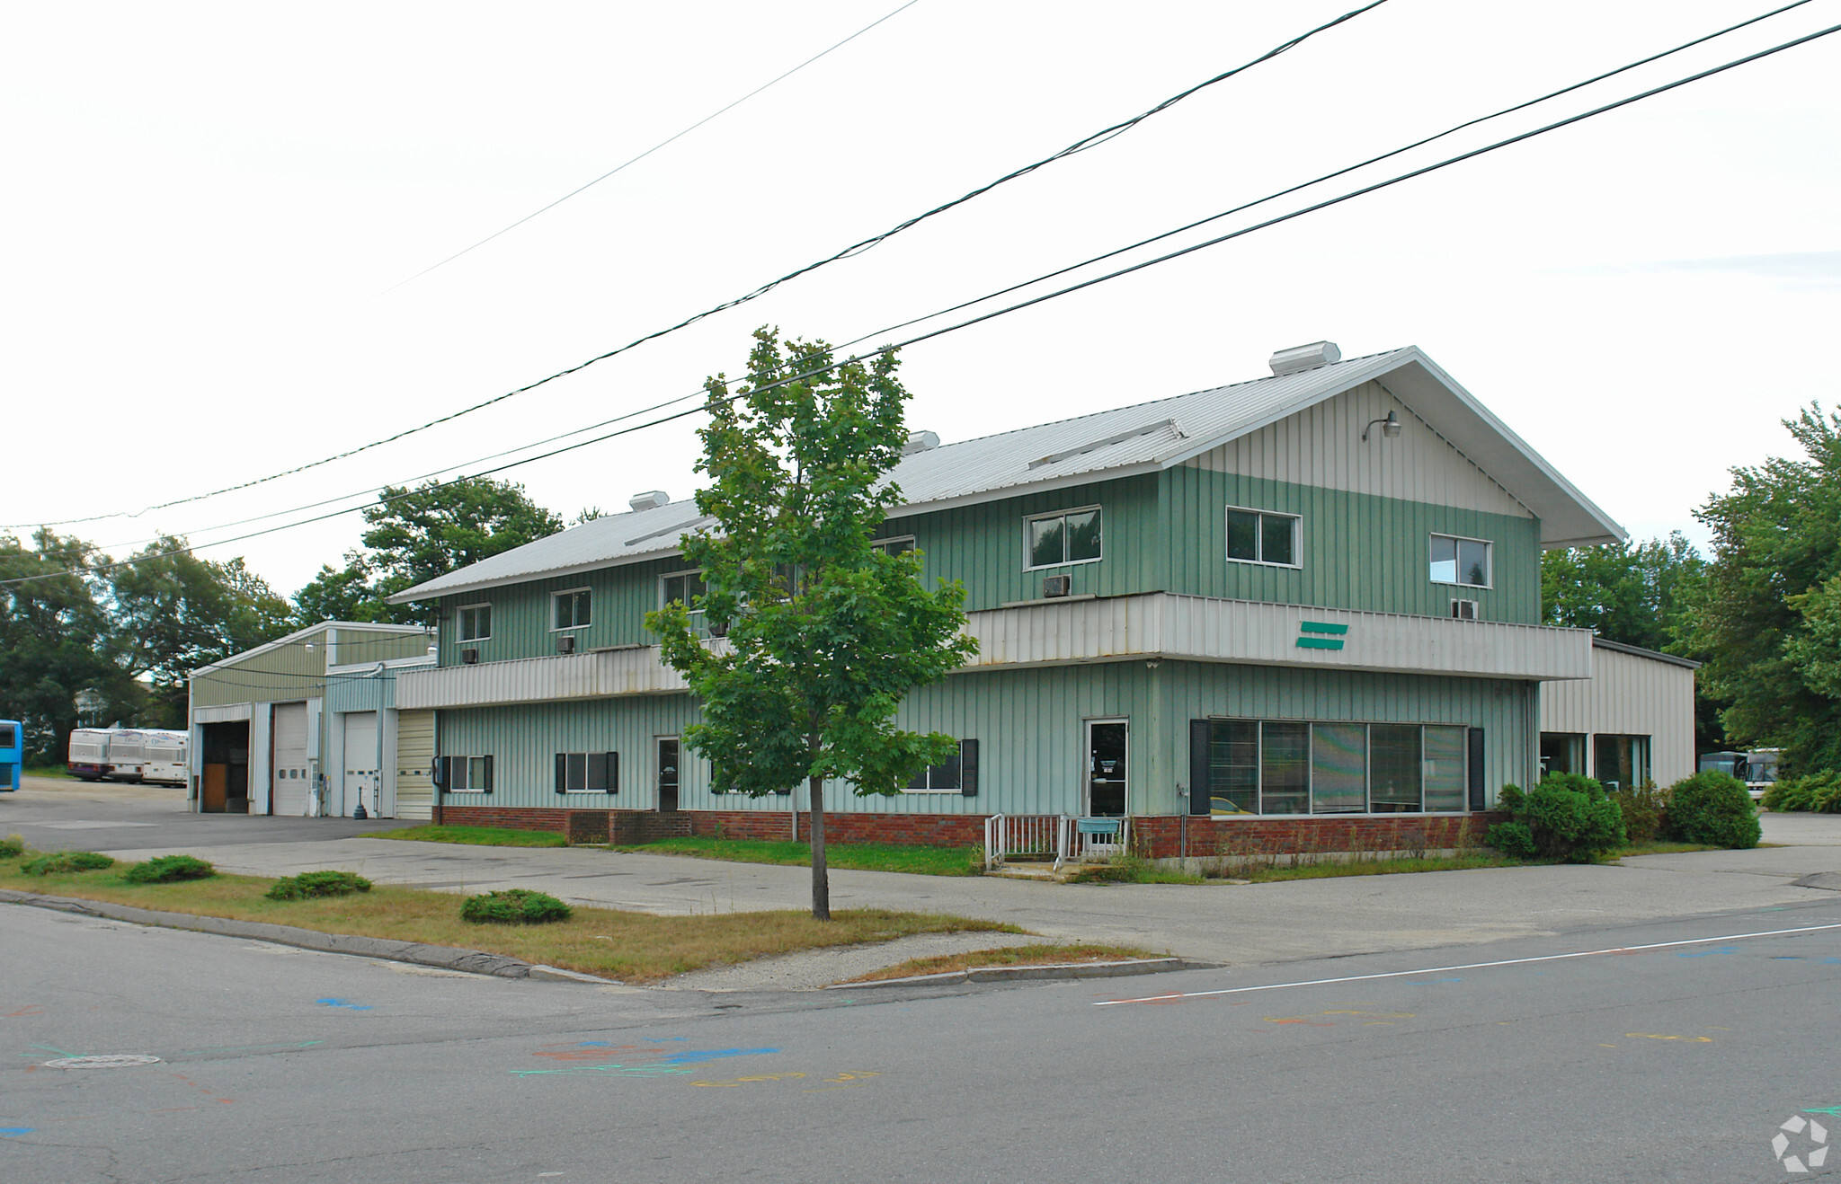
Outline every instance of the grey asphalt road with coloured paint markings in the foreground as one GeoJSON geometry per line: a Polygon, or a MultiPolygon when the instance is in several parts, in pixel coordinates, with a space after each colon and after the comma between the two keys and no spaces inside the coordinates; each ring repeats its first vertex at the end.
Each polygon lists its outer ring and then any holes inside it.
{"type": "Polygon", "coordinates": [[[9,1184],[1841,1169],[1771,1149],[1795,1118],[1841,1142],[1841,897],[930,995],[486,980],[24,906],[0,949],[9,1184]],[[103,1053],[160,1061],[46,1066],[103,1053]]]}

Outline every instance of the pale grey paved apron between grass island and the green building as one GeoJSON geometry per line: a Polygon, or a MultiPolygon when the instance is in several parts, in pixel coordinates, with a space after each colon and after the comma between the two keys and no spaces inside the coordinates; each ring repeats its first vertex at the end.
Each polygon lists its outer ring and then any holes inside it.
{"type": "MultiPolygon", "coordinates": [[[[1661,917],[1834,901],[1791,881],[1841,871],[1841,816],[1766,816],[1754,851],[1650,855],[1622,866],[1359,875],[1281,884],[1048,884],[832,870],[834,908],[1009,921],[1066,941],[1259,963],[1469,945],[1661,917]]],[[[149,859],[173,848],[116,849],[149,859]]],[[[225,871],[359,871],[440,892],[538,888],[580,905],[666,916],[805,908],[810,871],[596,848],[469,848],[387,838],[186,846],[225,871]]]]}

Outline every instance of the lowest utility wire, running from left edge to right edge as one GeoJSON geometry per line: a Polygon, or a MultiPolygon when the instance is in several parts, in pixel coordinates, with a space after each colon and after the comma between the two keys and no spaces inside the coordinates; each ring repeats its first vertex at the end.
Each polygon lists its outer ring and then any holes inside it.
{"type": "MultiPolygon", "coordinates": [[[[906,340],[893,342],[889,346],[880,346],[880,347],[873,349],[869,353],[869,357],[874,357],[874,355],[880,355],[880,353],[891,353],[891,351],[897,351],[897,349],[906,349],[908,346],[913,346],[913,344],[919,344],[919,342],[926,342],[926,340],[932,340],[935,336],[944,336],[948,333],[957,333],[959,329],[967,329],[970,325],[978,325],[978,324],[983,324],[987,320],[994,320],[998,316],[1005,316],[1009,313],[1016,313],[1020,309],[1035,307],[1038,303],[1055,300],[1059,296],[1068,296],[1071,292],[1079,292],[1079,290],[1090,289],[1094,285],[1106,283],[1110,279],[1117,279],[1121,276],[1130,276],[1134,272],[1140,272],[1140,270],[1145,270],[1145,268],[1151,268],[1151,267],[1158,267],[1160,263],[1169,263],[1171,259],[1180,259],[1184,256],[1195,254],[1198,250],[1206,250],[1210,246],[1219,246],[1221,243],[1228,243],[1232,239],[1239,239],[1239,237],[1256,233],[1259,230],[1267,230],[1270,226],[1278,226],[1281,222],[1289,222],[1292,219],[1300,219],[1300,217],[1303,217],[1307,213],[1316,213],[1316,211],[1327,210],[1331,206],[1340,206],[1342,202],[1353,200],[1357,197],[1364,197],[1368,193],[1375,193],[1379,189],[1386,189],[1386,188],[1397,186],[1401,182],[1414,180],[1418,176],[1425,176],[1425,175],[1436,173],[1440,169],[1447,169],[1447,167],[1451,167],[1454,164],[1462,164],[1465,160],[1473,160],[1476,156],[1484,156],[1488,153],[1495,153],[1499,149],[1521,143],[1524,140],[1532,140],[1535,136],[1545,136],[1546,132],[1559,131],[1559,129],[1570,127],[1574,123],[1581,123],[1585,120],[1602,116],[1602,114],[1611,112],[1611,110],[1618,110],[1622,107],[1629,107],[1631,103],[1640,103],[1644,99],[1651,99],[1651,97],[1655,97],[1659,94],[1666,94],[1670,90],[1677,90],[1677,88],[1686,86],[1690,83],[1697,83],[1697,81],[1714,77],[1716,74],[1725,74],[1727,70],[1734,70],[1738,66],[1745,66],[1749,63],[1762,61],[1762,59],[1771,57],[1775,53],[1782,53],[1784,50],[1793,50],[1797,46],[1808,44],[1808,42],[1817,40],[1821,37],[1828,37],[1832,33],[1841,33],[1841,24],[1834,24],[1834,26],[1828,26],[1824,29],[1817,29],[1813,33],[1806,33],[1804,37],[1797,37],[1793,40],[1786,40],[1786,42],[1771,46],[1767,50],[1758,50],[1756,53],[1747,53],[1745,57],[1736,57],[1736,59],[1732,59],[1729,63],[1723,63],[1719,66],[1710,66],[1707,70],[1701,70],[1697,74],[1690,74],[1690,75],[1675,79],[1672,83],[1662,83],[1661,86],[1651,86],[1650,90],[1644,90],[1644,92],[1638,92],[1638,94],[1633,94],[1633,96],[1627,96],[1627,97],[1622,97],[1622,99],[1615,99],[1615,101],[1605,103],[1602,107],[1594,107],[1594,108],[1580,112],[1576,116],[1567,116],[1565,120],[1556,120],[1556,121],[1546,123],[1543,127],[1535,127],[1532,131],[1519,132],[1515,136],[1508,136],[1508,138],[1497,140],[1493,143],[1486,143],[1486,145],[1471,149],[1467,153],[1458,153],[1456,156],[1447,156],[1445,160],[1440,160],[1440,162],[1434,162],[1434,164],[1429,164],[1429,165],[1423,165],[1423,167],[1418,167],[1418,169],[1410,169],[1407,173],[1399,173],[1399,175],[1390,176],[1386,180],[1377,180],[1377,182],[1362,186],[1359,189],[1349,189],[1346,193],[1340,193],[1340,195],[1331,197],[1331,199],[1324,199],[1324,200],[1314,202],[1311,206],[1303,206],[1300,210],[1292,210],[1291,213],[1281,213],[1281,215],[1270,217],[1270,219],[1267,219],[1263,222],[1256,222],[1252,226],[1243,226],[1241,230],[1232,230],[1228,233],[1215,235],[1213,239],[1204,239],[1202,243],[1193,243],[1189,246],[1182,246],[1178,250],[1165,252],[1165,254],[1156,256],[1152,259],[1145,259],[1141,263],[1132,263],[1130,267],[1121,267],[1121,268],[1106,272],[1103,276],[1095,276],[1092,279],[1083,279],[1081,283],[1071,283],[1071,285],[1057,289],[1053,292],[1044,292],[1042,296],[1033,296],[1029,300],[1020,300],[1020,302],[1005,305],[1002,309],[994,309],[994,311],[983,313],[979,316],[970,316],[967,320],[955,322],[952,325],[944,325],[941,329],[932,329],[928,333],[917,333],[917,335],[913,335],[913,336],[909,336],[906,340]]],[[[733,395],[727,395],[727,399],[724,399],[724,401],[725,403],[735,403],[738,399],[746,399],[749,393],[757,393],[758,390],[773,390],[773,388],[779,388],[779,386],[786,386],[790,382],[801,382],[801,381],[810,379],[814,375],[827,373],[827,371],[832,371],[832,370],[836,370],[839,366],[849,366],[851,362],[860,362],[860,360],[863,360],[863,359],[851,357],[851,359],[845,359],[843,362],[830,362],[830,364],[819,366],[816,370],[808,370],[805,373],[797,373],[797,375],[790,375],[786,379],[779,379],[775,382],[770,382],[766,386],[757,388],[755,392],[751,392],[751,390],[740,390],[740,392],[736,392],[733,395]]],[[[617,430],[608,432],[604,436],[595,436],[591,439],[584,439],[584,441],[576,441],[576,443],[571,443],[571,445],[563,445],[560,449],[552,449],[552,450],[541,452],[538,456],[527,456],[523,460],[508,461],[508,463],[497,465],[493,469],[484,469],[481,472],[475,472],[473,476],[475,478],[479,478],[479,476],[492,476],[495,472],[504,472],[506,469],[515,469],[519,465],[528,465],[528,463],[534,463],[534,461],[539,461],[539,460],[549,460],[549,458],[560,456],[563,452],[573,452],[576,449],[585,449],[589,445],[602,443],[606,439],[613,439],[617,436],[628,436],[631,432],[643,432],[646,428],[659,427],[661,423],[670,423],[674,419],[683,419],[685,416],[694,416],[694,414],[698,414],[701,410],[707,410],[707,406],[709,406],[709,403],[694,406],[690,410],[676,412],[676,414],[670,414],[670,416],[661,416],[657,419],[648,419],[646,423],[637,423],[637,425],[631,425],[631,427],[626,427],[626,428],[617,428],[617,430]]],[[[453,478],[453,480],[468,480],[468,478],[453,478]]],[[[433,487],[440,487],[440,485],[451,485],[453,480],[440,482],[438,485],[427,485],[423,489],[433,489],[433,487]]],[[[398,495],[398,496],[409,496],[409,493],[398,495]]],[[[272,526],[272,528],[267,528],[267,529],[250,531],[247,535],[237,535],[237,537],[232,537],[232,539],[219,539],[219,541],[210,542],[206,546],[223,546],[226,542],[241,542],[245,539],[254,539],[258,535],[271,535],[271,533],[276,533],[276,531],[293,529],[295,526],[307,526],[309,522],[320,522],[324,518],[335,518],[335,517],[339,517],[342,513],[350,513],[350,511],[344,509],[344,511],[333,511],[333,513],[328,513],[328,515],[318,515],[318,517],[313,517],[313,518],[302,518],[298,522],[289,522],[289,524],[284,524],[284,526],[272,526]]],[[[125,566],[127,563],[147,563],[151,559],[164,559],[168,555],[179,555],[179,553],[184,553],[184,552],[190,552],[190,550],[193,550],[193,548],[177,548],[173,552],[162,552],[158,555],[138,555],[134,559],[114,561],[114,563],[107,563],[107,564],[94,564],[94,566],[88,566],[88,568],[72,568],[72,570],[66,570],[66,572],[44,572],[44,574],[39,574],[39,575],[22,575],[22,577],[17,577],[17,579],[0,579],[0,586],[11,586],[11,585],[29,583],[29,581],[37,581],[37,579],[53,579],[53,577],[59,577],[59,575],[90,575],[90,574],[107,572],[107,570],[112,570],[112,568],[118,568],[118,566],[125,566]]]]}

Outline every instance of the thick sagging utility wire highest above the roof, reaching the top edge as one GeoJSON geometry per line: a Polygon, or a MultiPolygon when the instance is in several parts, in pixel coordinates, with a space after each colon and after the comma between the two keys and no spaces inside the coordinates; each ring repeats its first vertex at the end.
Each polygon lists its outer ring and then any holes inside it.
{"type": "Polygon", "coordinates": [[[1386,4],[1386,0],[1372,0],[1372,4],[1366,4],[1362,7],[1348,11],[1348,13],[1340,15],[1340,17],[1337,17],[1335,20],[1327,20],[1327,22],[1316,26],[1314,29],[1300,33],[1300,35],[1292,37],[1291,40],[1287,40],[1287,42],[1283,42],[1279,46],[1274,46],[1272,50],[1267,50],[1259,57],[1256,57],[1256,59],[1252,59],[1252,61],[1248,61],[1248,63],[1245,63],[1241,66],[1235,66],[1232,70],[1224,70],[1222,74],[1217,74],[1211,79],[1197,83],[1195,86],[1189,86],[1187,90],[1182,90],[1182,92],[1178,92],[1178,94],[1164,99],[1156,107],[1132,116],[1130,120],[1123,120],[1123,121],[1114,123],[1110,127],[1103,127],[1103,129],[1099,129],[1097,132],[1094,132],[1090,136],[1075,140],[1073,143],[1070,143],[1068,147],[1060,149],[1059,153],[1055,153],[1051,156],[1044,156],[1042,160],[1036,160],[1035,164],[1027,164],[1027,165],[1024,165],[1020,169],[1013,169],[1011,173],[1005,173],[1003,176],[1000,176],[1000,178],[996,178],[996,180],[992,180],[989,184],[983,184],[983,186],[979,186],[979,188],[976,188],[976,189],[972,189],[972,191],[968,191],[968,193],[965,193],[961,197],[955,197],[950,202],[933,206],[926,213],[919,213],[919,215],[915,215],[915,217],[911,217],[911,219],[908,219],[908,221],[904,221],[904,222],[900,222],[900,224],[897,224],[897,226],[893,226],[889,230],[884,230],[878,235],[873,235],[873,237],[863,239],[860,243],[852,243],[851,246],[845,246],[843,250],[838,250],[838,252],[834,252],[830,256],[825,256],[823,259],[817,259],[816,263],[808,263],[808,265],[805,265],[805,267],[801,267],[797,270],[786,272],[784,276],[781,276],[777,279],[770,279],[768,283],[762,283],[760,287],[753,289],[751,292],[746,292],[746,294],[736,296],[733,300],[725,300],[725,302],[722,302],[722,303],[718,303],[718,305],[714,305],[711,309],[705,309],[701,313],[687,316],[687,318],[679,320],[677,324],[668,325],[665,329],[657,329],[657,331],[648,333],[644,336],[633,338],[631,342],[628,342],[624,346],[619,346],[615,349],[609,349],[606,353],[595,355],[595,357],[587,359],[585,362],[580,362],[576,366],[569,366],[567,370],[558,370],[556,373],[552,373],[549,377],[543,377],[543,379],[538,379],[536,382],[527,382],[525,386],[508,390],[508,392],[504,392],[501,395],[493,395],[493,397],[484,399],[481,403],[475,403],[471,406],[464,406],[464,408],[460,408],[457,412],[449,412],[447,416],[440,416],[436,419],[429,419],[427,423],[423,423],[420,427],[403,428],[401,432],[396,432],[392,436],[385,436],[381,439],[374,439],[374,441],[370,441],[366,445],[357,445],[353,449],[346,449],[344,452],[335,452],[335,454],[326,456],[322,460],[315,460],[315,461],[309,461],[309,463],[304,463],[304,465],[295,465],[293,469],[284,469],[280,472],[271,472],[269,476],[261,476],[261,478],[256,478],[256,480],[241,482],[241,484],[236,484],[236,485],[225,485],[223,489],[214,489],[210,493],[199,493],[199,495],[186,496],[186,498],[175,498],[171,502],[158,502],[155,506],[147,506],[147,507],[138,509],[134,513],[120,513],[118,511],[118,513],[107,513],[107,515],[90,515],[90,517],[85,517],[85,518],[59,518],[55,522],[9,522],[6,526],[0,526],[0,529],[15,529],[15,528],[29,528],[29,526],[74,526],[77,522],[98,522],[101,518],[122,518],[122,517],[138,518],[140,515],[151,513],[155,509],[169,509],[173,506],[184,506],[188,502],[203,502],[206,498],[215,498],[215,496],[221,496],[225,493],[236,493],[237,489],[249,489],[252,485],[263,485],[267,482],[274,482],[274,480],[280,480],[284,476],[295,476],[296,472],[306,472],[307,469],[318,469],[320,465],[330,465],[333,461],[346,460],[348,456],[357,456],[359,452],[368,452],[370,449],[379,449],[379,447],[383,447],[387,443],[394,443],[398,439],[403,439],[405,436],[414,436],[416,432],[425,432],[425,430],[429,430],[433,427],[438,427],[442,423],[449,423],[453,419],[460,419],[462,416],[471,416],[473,412],[484,410],[484,408],[493,406],[497,403],[504,403],[506,399],[512,399],[512,397],[523,395],[527,392],[532,392],[532,390],[536,390],[539,386],[554,382],[556,379],[563,379],[563,377],[569,377],[569,375],[578,373],[582,370],[587,370],[589,366],[593,366],[596,362],[604,362],[604,360],[608,360],[611,357],[626,353],[628,349],[635,349],[637,346],[643,346],[643,344],[646,344],[650,340],[657,340],[657,338],[666,336],[670,333],[677,333],[679,329],[694,325],[696,322],[700,322],[700,320],[703,320],[707,316],[714,316],[716,313],[724,313],[727,309],[735,309],[738,305],[744,305],[744,303],[747,303],[751,300],[758,300],[760,296],[766,296],[773,289],[781,287],[782,283],[786,283],[790,279],[797,279],[799,276],[814,272],[814,270],[817,270],[821,267],[827,267],[828,263],[836,263],[838,259],[845,259],[845,257],[862,254],[862,252],[869,250],[871,246],[876,246],[878,243],[884,243],[889,237],[900,233],[900,232],[904,232],[904,230],[908,230],[911,226],[917,226],[917,224],[924,222],[930,217],[944,213],[944,211],[952,210],[954,206],[961,206],[961,204],[965,204],[965,202],[968,202],[968,200],[972,200],[976,197],[981,197],[983,193],[989,193],[989,191],[996,189],[998,186],[1002,186],[1005,182],[1016,180],[1018,176],[1027,176],[1029,173],[1035,173],[1036,169],[1046,167],[1046,165],[1049,165],[1049,164],[1053,164],[1057,160],[1062,160],[1066,156],[1073,156],[1075,153],[1084,153],[1090,147],[1097,147],[1097,145],[1105,143],[1106,140],[1112,140],[1112,138],[1116,138],[1116,136],[1130,131],[1138,123],[1143,123],[1151,116],[1154,116],[1154,114],[1158,114],[1162,110],[1167,110],[1169,107],[1173,107],[1175,103],[1180,103],[1182,99],[1193,96],[1195,92],[1198,92],[1198,90],[1202,90],[1206,86],[1213,86],[1215,83],[1226,81],[1226,79],[1230,79],[1230,77],[1233,77],[1237,74],[1243,74],[1246,70],[1252,70],[1254,66],[1257,66],[1261,63],[1267,63],[1267,61],[1274,59],[1274,57],[1278,57],[1279,53],[1285,53],[1287,50],[1292,50],[1292,48],[1303,44],[1311,37],[1316,37],[1318,33],[1322,33],[1326,29],[1331,29],[1331,28],[1335,28],[1335,26],[1346,22],[1346,20],[1353,20],[1355,17],[1360,17],[1362,13],[1366,13],[1370,9],[1375,9],[1375,7],[1383,6],[1383,4],[1386,4]]]}

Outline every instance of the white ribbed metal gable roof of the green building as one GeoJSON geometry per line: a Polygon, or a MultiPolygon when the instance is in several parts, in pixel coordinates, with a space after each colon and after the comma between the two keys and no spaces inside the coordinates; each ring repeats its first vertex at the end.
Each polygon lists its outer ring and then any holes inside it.
{"type": "MultiPolygon", "coordinates": [[[[946,509],[1035,489],[1154,472],[1372,381],[1383,382],[1534,511],[1541,518],[1545,546],[1585,546],[1626,537],[1622,526],[1418,346],[913,452],[891,474],[902,489],[902,507],[893,513],[946,509]]],[[[707,522],[690,500],[595,518],[398,592],[390,601],[479,592],[657,559],[677,550],[685,529],[707,522]]]]}

